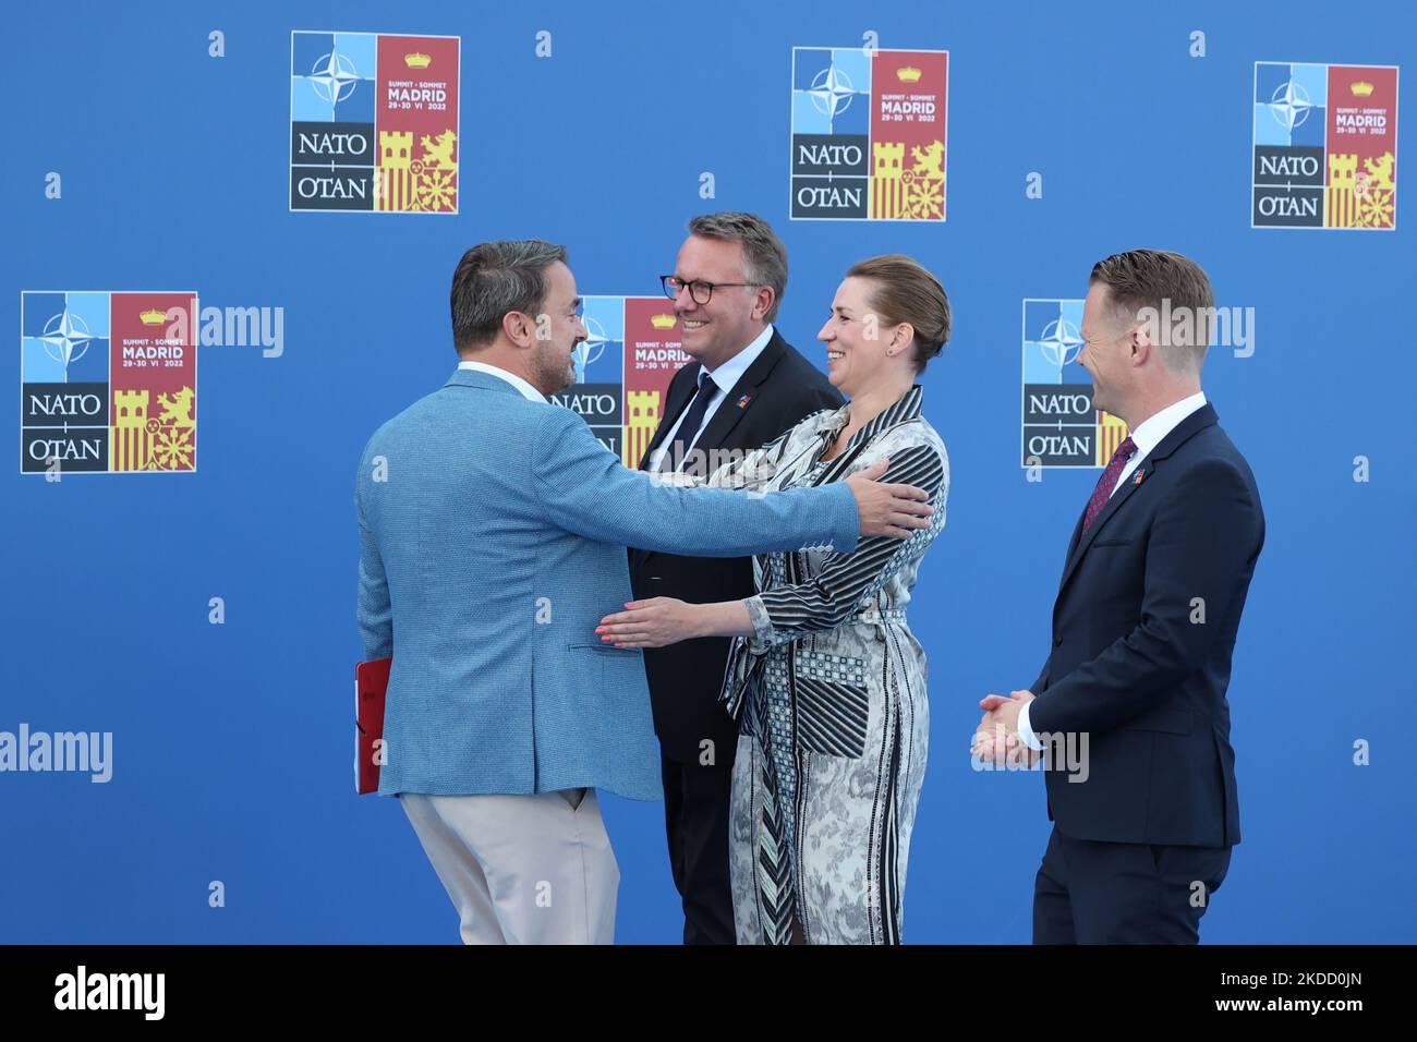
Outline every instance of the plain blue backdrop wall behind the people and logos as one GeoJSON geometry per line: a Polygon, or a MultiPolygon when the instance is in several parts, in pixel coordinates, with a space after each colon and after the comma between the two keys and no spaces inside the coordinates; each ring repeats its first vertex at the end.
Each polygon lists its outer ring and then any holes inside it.
{"type": "MultiPolygon", "coordinates": [[[[1413,221],[1250,227],[1253,64],[1403,65],[1408,4],[52,3],[10,6],[4,24],[0,327],[18,326],[23,289],[197,289],[283,308],[285,350],[201,349],[196,474],[0,478],[0,730],[112,732],[115,749],[108,784],[0,774],[0,940],[455,941],[397,802],[353,794],[360,449],[452,370],[448,285],[473,242],[563,241],[582,292],[648,295],[684,221],[733,208],[786,242],[779,327],[818,364],[812,337],[856,259],[911,254],[955,309],[924,381],[954,482],[911,610],[932,754],[905,939],[1030,936],[1041,778],[975,773],[968,736],[983,693],[1037,673],[1097,472],[1030,483],[1019,466],[1020,301],[1083,296],[1095,259],[1149,245],[1255,309],[1254,354],[1213,349],[1204,373],[1268,517],[1230,685],[1246,839],[1204,937],[1417,941],[1400,777],[1417,356],[1397,308],[1413,221]],[[456,217],[288,211],[296,28],[462,37],[456,217]],[[949,51],[948,221],[791,223],[791,48],[870,30],[949,51]]],[[[18,396],[0,400],[0,437],[17,438],[18,396]]],[[[606,798],[605,814],[618,939],[674,941],[662,805],[606,798]]]]}

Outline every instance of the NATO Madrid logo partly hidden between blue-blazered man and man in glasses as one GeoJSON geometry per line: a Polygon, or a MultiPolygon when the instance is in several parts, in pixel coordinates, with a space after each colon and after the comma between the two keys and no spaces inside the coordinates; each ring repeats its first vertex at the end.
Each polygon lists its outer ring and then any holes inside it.
{"type": "Polygon", "coordinates": [[[662,296],[587,296],[589,335],[575,349],[575,384],[553,394],[578,413],[625,466],[639,466],[665,414],[665,394],[690,359],[662,296]]]}

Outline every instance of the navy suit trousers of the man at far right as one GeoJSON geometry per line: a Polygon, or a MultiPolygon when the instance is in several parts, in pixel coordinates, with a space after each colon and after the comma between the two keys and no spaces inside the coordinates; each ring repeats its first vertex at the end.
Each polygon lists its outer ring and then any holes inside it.
{"type": "Polygon", "coordinates": [[[1230,851],[1073,839],[1054,824],[1033,886],[1033,943],[1197,944],[1230,851]]]}

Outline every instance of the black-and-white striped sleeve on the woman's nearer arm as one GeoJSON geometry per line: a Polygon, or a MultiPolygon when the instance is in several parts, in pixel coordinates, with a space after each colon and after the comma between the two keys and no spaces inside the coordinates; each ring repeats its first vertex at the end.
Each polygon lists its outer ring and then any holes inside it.
{"type": "Polygon", "coordinates": [[[836,628],[856,614],[907,560],[924,553],[924,547],[939,533],[949,493],[949,478],[939,452],[932,445],[910,445],[890,452],[890,461],[887,479],[915,485],[930,493],[935,508],[931,526],[917,529],[908,539],[860,539],[850,553],[829,556],[812,580],[772,587],[747,598],[744,604],[754,628],[750,651],[761,654],[803,634],[836,628]]]}

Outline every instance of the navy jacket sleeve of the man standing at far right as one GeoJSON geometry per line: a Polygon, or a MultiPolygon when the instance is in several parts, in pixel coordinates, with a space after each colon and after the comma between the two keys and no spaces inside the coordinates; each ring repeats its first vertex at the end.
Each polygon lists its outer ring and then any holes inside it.
{"type": "Polygon", "coordinates": [[[1220,639],[1257,553],[1260,525],[1260,505],[1229,462],[1209,461],[1182,475],[1152,523],[1141,621],[1034,699],[1034,733],[1102,733],[1173,693],[1220,639]],[[1190,621],[1197,597],[1207,624],[1190,621]]]}

